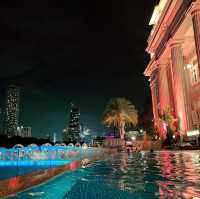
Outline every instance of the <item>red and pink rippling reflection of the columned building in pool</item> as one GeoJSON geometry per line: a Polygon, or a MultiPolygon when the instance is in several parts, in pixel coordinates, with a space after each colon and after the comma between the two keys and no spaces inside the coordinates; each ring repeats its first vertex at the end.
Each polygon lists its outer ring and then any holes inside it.
{"type": "Polygon", "coordinates": [[[157,155],[165,178],[158,181],[160,198],[200,198],[200,163],[198,152],[165,151],[157,155]]]}

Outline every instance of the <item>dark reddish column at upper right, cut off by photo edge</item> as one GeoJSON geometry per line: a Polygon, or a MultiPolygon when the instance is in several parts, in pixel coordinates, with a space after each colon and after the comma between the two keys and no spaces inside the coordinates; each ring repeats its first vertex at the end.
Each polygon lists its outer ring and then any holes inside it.
{"type": "Polygon", "coordinates": [[[200,73],[200,3],[194,3],[191,15],[196,45],[196,54],[200,73]]]}

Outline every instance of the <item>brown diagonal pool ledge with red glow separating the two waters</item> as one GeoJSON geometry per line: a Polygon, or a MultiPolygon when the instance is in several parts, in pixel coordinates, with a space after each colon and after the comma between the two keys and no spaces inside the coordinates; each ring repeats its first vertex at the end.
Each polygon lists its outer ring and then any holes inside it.
{"type": "Polygon", "coordinates": [[[86,164],[90,164],[94,161],[97,161],[104,157],[105,154],[115,153],[115,150],[107,150],[106,153],[92,157],[90,159],[84,158],[78,161],[71,162],[64,166],[59,166],[50,169],[38,170],[29,174],[24,174],[20,176],[15,176],[9,179],[0,181],[0,198],[15,195],[18,192],[24,191],[33,186],[44,183],[51,178],[66,172],[73,171],[77,168],[84,166],[86,164]]]}

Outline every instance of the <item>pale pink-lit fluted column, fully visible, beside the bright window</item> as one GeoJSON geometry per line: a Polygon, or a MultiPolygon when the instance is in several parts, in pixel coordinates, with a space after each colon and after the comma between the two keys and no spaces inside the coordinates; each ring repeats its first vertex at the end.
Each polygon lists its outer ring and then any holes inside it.
{"type": "Polygon", "coordinates": [[[178,42],[171,44],[172,76],[175,114],[179,119],[180,130],[185,133],[190,129],[188,115],[188,101],[186,92],[186,81],[184,72],[184,57],[182,46],[178,42]]]}

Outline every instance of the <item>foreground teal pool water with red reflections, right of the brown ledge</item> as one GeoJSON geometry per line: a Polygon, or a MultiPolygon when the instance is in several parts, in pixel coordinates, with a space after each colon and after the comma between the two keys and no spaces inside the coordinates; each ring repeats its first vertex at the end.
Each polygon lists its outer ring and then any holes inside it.
{"type": "Polygon", "coordinates": [[[198,199],[200,152],[119,153],[10,198],[198,199]]]}

